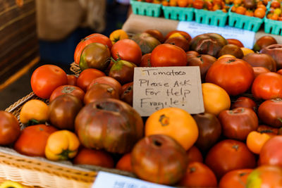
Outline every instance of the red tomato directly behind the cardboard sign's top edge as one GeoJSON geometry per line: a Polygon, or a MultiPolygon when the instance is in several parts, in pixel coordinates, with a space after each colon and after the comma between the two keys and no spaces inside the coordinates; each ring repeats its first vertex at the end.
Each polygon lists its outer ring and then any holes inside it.
{"type": "Polygon", "coordinates": [[[183,49],[173,44],[160,44],[151,54],[152,67],[185,66],[187,55],[183,49]]]}

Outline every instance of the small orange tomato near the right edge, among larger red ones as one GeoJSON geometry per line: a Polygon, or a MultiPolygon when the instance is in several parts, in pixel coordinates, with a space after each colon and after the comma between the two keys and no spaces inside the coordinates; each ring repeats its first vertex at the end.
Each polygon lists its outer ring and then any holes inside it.
{"type": "Polygon", "coordinates": [[[269,134],[252,131],[247,134],[247,148],[250,149],[250,151],[252,151],[253,153],[259,154],[262,150],[262,146],[270,138],[271,137],[269,136],[269,134]]]}

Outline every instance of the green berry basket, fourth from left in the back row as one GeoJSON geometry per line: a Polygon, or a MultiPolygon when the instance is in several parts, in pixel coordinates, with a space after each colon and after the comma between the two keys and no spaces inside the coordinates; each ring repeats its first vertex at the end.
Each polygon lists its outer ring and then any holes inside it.
{"type": "Polygon", "coordinates": [[[264,19],[261,18],[233,13],[231,12],[231,8],[229,8],[228,11],[228,15],[229,15],[228,25],[231,27],[237,27],[240,29],[257,32],[260,26],[262,25],[262,23],[264,22],[264,19]]]}

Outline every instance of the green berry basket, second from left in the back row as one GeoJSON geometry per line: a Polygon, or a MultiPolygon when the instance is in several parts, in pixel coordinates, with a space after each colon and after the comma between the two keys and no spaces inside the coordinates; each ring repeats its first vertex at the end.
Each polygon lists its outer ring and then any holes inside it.
{"type": "Polygon", "coordinates": [[[192,21],[194,17],[194,8],[178,6],[162,6],[164,18],[180,21],[192,21]]]}

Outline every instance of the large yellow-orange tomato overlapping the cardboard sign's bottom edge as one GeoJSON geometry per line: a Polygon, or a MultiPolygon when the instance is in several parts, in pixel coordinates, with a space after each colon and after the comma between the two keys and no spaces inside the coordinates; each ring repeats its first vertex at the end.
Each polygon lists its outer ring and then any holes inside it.
{"type": "Polygon", "coordinates": [[[190,113],[180,108],[163,108],[152,113],[145,123],[145,136],[165,134],[176,139],[185,150],[197,141],[198,133],[190,113]]]}

